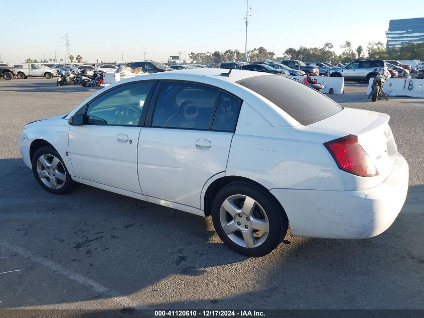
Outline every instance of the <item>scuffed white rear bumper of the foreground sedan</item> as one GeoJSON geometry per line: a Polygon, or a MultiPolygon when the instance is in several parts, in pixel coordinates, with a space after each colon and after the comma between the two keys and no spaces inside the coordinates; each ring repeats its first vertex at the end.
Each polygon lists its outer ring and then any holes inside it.
{"type": "Polygon", "coordinates": [[[405,202],[408,164],[399,154],[387,179],[359,191],[272,189],[295,236],[364,239],[387,230],[405,202]]]}

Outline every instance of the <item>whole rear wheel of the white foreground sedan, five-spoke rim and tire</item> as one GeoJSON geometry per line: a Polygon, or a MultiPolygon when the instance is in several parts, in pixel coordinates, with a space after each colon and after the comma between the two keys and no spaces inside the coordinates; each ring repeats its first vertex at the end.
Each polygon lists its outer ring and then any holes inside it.
{"type": "Polygon", "coordinates": [[[266,189],[233,182],[216,194],[212,221],[221,240],[247,256],[264,256],[284,239],[289,227],[284,209],[266,189]]]}

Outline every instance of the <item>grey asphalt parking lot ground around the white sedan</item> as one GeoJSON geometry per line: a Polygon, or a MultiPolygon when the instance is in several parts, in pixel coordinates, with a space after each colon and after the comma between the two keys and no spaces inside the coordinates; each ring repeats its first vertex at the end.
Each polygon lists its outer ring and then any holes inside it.
{"type": "Polygon", "coordinates": [[[331,96],[391,117],[410,179],[385,233],[288,235],[266,257],[246,258],[224,246],[210,218],[86,185],[56,196],[37,184],[20,158],[23,127],[96,90],[0,80],[0,308],[424,308],[424,99],[372,103],[353,83],[331,96]]]}

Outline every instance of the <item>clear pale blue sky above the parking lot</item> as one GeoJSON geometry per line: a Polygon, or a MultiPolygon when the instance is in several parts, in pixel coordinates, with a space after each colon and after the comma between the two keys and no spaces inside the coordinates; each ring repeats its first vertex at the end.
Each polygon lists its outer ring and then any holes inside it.
{"type": "MultiPolygon", "coordinates": [[[[249,0],[247,50],[265,47],[282,56],[289,47],[321,47],[351,41],[364,49],[386,43],[389,20],[424,16],[424,1],[249,0]]],[[[27,58],[168,61],[190,52],[244,52],[246,0],[4,0],[0,54],[4,62],[27,58]],[[5,14],[10,12],[10,14],[5,14]],[[27,13],[25,13],[27,12],[27,13]],[[56,52],[56,53],[55,53],[56,52]]]]}

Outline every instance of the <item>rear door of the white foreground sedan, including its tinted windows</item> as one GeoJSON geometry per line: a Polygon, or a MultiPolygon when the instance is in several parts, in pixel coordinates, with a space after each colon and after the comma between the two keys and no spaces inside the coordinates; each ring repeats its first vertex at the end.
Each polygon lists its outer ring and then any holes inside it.
{"type": "Polygon", "coordinates": [[[145,195],[200,208],[204,184],[226,170],[241,100],[188,82],[164,81],[157,90],[138,141],[140,186],[145,195]]]}

